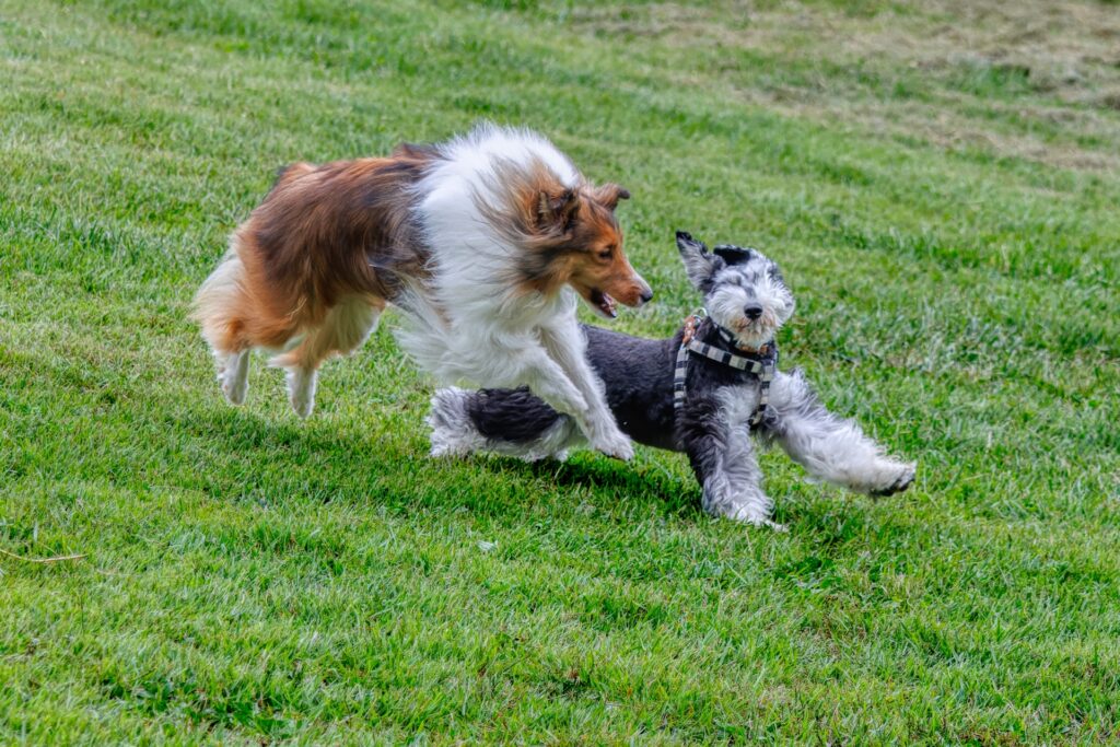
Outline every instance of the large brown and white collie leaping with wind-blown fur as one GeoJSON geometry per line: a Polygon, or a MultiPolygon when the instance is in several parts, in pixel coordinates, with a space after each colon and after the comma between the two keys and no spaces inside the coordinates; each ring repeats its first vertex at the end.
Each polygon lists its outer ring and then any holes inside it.
{"type": "Polygon", "coordinates": [[[402,346],[437,379],[525,385],[628,459],[576,321],[577,296],[605,317],[653,296],[623,251],[615,208],[628,197],[543,137],[488,123],[385,158],[295,164],[233,233],[193,316],[230,402],[245,400],[262,348],[306,418],[320,364],[393,304],[412,319],[402,346]]]}

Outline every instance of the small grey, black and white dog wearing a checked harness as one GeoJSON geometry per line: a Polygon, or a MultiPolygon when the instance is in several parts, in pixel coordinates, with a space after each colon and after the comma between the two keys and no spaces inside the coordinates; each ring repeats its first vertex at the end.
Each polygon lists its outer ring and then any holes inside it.
{"type": "MultiPolygon", "coordinates": [[[[709,252],[687,233],[676,246],[707,318],[668,339],[584,326],[619,427],[641,443],[685,452],[704,511],[753,524],[781,529],[769,520],[752,436],[777,442],[813,478],[870,495],[905,491],[913,464],[884,456],[858,424],[829,412],[800,371],[776,371],[774,334],[794,308],[777,265],[753,249],[709,252]]],[[[440,390],[428,423],[435,456],[564,458],[585,443],[575,421],[524,387],[440,390]]]]}

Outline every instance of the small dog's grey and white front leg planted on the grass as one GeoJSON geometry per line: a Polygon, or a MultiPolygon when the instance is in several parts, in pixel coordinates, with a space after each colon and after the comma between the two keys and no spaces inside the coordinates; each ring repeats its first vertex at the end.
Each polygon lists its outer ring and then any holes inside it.
{"type": "Polygon", "coordinates": [[[701,428],[687,426],[684,446],[703,487],[700,505],[706,512],[785,531],[771,521],[773,502],[763,489],[762,469],[745,424],[709,420],[701,428]]]}

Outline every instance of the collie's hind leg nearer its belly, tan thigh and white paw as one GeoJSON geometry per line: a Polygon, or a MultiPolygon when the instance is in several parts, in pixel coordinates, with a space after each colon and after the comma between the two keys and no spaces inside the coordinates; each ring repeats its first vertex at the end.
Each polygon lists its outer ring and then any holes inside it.
{"type": "Polygon", "coordinates": [[[288,370],[288,399],[300,418],[315,408],[319,366],[332,355],[346,355],[357,348],[376,326],[383,304],[362,297],[344,299],[327,312],[326,319],[308,330],[292,349],[274,357],[270,365],[288,370]]]}

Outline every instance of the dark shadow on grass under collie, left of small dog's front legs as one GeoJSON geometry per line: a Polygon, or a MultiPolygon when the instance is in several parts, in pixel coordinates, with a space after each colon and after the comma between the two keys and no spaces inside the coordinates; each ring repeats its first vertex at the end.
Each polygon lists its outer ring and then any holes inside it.
{"type": "Polygon", "coordinates": [[[164,421],[179,435],[177,450],[207,463],[205,469],[195,463],[168,478],[226,499],[345,502],[394,513],[466,507],[517,521],[539,517],[542,503],[566,512],[575,497],[609,513],[622,507],[700,516],[696,483],[655,465],[590,452],[533,464],[496,456],[431,458],[408,413],[386,413],[368,423],[316,421],[314,415],[278,422],[250,409],[203,407],[164,421]]]}

